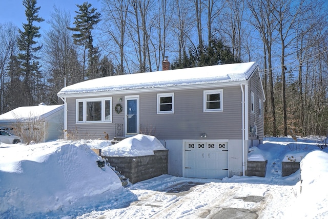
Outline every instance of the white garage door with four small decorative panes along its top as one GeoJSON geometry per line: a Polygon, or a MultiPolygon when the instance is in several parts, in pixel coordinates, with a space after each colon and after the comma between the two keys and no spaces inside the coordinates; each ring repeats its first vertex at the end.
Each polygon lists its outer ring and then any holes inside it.
{"type": "Polygon", "coordinates": [[[227,142],[185,142],[185,177],[228,176],[227,142]]]}

